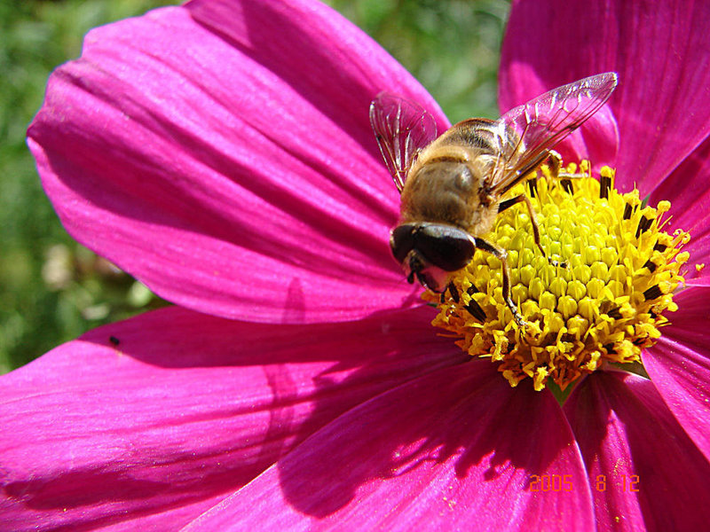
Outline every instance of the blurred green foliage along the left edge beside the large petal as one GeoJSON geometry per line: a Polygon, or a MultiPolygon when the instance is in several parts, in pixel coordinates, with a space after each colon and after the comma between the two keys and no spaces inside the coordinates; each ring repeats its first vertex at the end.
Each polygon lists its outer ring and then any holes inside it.
{"type": "Polygon", "coordinates": [[[160,304],[154,297],[131,300],[136,281],[62,229],[25,130],[51,70],[79,56],[91,27],[164,4],[0,0],[0,373],[96,325],[160,304]]]}

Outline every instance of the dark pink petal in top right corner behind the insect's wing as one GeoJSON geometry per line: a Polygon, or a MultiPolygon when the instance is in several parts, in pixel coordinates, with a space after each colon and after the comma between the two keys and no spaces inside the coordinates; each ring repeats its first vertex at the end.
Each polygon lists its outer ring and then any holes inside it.
{"type": "Polygon", "coordinates": [[[501,108],[533,98],[540,84],[618,72],[610,100],[619,121],[617,181],[648,193],[710,134],[708,31],[702,2],[515,2],[502,47],[501,108]]]}

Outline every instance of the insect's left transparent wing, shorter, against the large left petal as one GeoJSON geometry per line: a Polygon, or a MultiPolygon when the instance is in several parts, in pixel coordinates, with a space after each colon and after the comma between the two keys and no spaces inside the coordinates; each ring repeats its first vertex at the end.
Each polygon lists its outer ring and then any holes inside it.
{"type": "Polygon", "coordinates": [[[437,122],[413,101],[381,92],[370,104],[370,124],[390,176],[402,192],[417,154],[437,137],[437,122]]]}

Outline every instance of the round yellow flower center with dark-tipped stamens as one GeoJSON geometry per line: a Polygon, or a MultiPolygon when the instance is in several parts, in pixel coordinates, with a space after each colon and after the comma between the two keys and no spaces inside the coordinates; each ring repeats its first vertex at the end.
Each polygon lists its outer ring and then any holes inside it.
{"type": "MultiPolygon", "coordinates": [[[[485,235],[508,251],[511,298],[527,325],[503,301],[501,262],[484,251],[454,273],[440,297],[424,296],[438,307],[432,324],[453,332],[469,355],[500,363],[513,387],[529,377],[538,391],[548,379],[564,391],[606,363],[638,365],[668,323],[664,312],[677,309],[673,292],[689,258],[680,248],[690,235],[662,231],[670,203],[644,206],[638,191],[614,189],[611,168],[599,180],[588,168],[583,161],[580,174],[553,179],[543,167],[547,178],[527,183],[547,257],[525,206],[502,212],[485,235]]],[[[514,193],[523,192],[520,184],[514,193]]]]}

